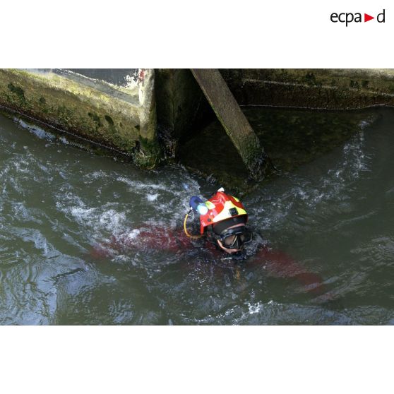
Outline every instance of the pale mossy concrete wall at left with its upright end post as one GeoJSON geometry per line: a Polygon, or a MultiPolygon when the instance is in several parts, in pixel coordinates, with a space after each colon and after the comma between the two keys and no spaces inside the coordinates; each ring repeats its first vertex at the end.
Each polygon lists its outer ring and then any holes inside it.
{"type": "Polygon", "coordinates": [[[0,69],[0,105],[131,155],[141,167],[154,167],[160,148],[153,69],[141,70],[138,78],[138,90],[133,90],[137,96],[122,100],[120,94],[117,97],[51,71],[0,69]]]}

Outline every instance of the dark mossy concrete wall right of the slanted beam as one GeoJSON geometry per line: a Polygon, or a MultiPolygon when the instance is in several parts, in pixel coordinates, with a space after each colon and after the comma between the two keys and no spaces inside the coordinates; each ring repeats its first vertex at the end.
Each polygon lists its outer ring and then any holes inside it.
{"type": "Polygon", "coordinates": [[[224,68],[240,105],[314,109],[394,106],[394,70],[379,68],[224,68]]]}

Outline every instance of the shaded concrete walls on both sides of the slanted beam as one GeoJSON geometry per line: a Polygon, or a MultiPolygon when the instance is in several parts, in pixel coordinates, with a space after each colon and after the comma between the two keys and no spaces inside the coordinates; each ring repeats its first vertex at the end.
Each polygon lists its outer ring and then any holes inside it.
{"type": "MultiPolygon", "coordinates": [[[[220,73],[239,105],[359,109],[394,106],[394,70],[224,68],[220,73]]],[[[155,70],[157,125],[167,157],[215,117],[187,69],[155,70]]],[[[223,130],[225,132],[225,130],[223,130]]]]}

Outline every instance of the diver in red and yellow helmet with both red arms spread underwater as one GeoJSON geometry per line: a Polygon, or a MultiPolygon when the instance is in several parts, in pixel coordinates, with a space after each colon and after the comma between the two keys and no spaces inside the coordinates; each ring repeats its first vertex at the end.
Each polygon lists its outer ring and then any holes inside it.
{"type": "MultiPolygon", "coordinates": [[[[269,276],[294,278],[304,286],[306,292],[321,294],[321,277],[310,273],[286,253],[274,251],[258,232],[252,232],[247,226],[248,214],[238,198],[225,193],[220,188],[207,201],[192,196],[190,209],[184,218],[183,229],[168,227],[141,227],[131,232],[112,237],[107,244],[97,245],[92,255],[96,258],[114,256],[114,252],[163,251],[179,253],[196,247],[191,239],[206,240],[203,249],[209,252],[210,260],[226,261],[238,264],[245,261],[248,265],[263,265],[269,276]],[[188,223],[193,211],[195,220],[188,223]],[[187,227],[198,226],[190,234],[187,227]],[[194,245],[193,245],[194,244],[194,245]]],[[[198,246],[202,246],[197,242],[198,246]]]]}

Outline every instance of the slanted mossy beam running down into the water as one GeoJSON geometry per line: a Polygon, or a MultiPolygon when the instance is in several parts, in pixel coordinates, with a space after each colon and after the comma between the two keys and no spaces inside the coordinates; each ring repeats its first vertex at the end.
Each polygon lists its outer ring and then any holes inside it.
{"type": "Polygon", "coordinates": [[[191,71],[241,156],[249,177],[261,179],[268,167],[268,157],[220,72],[216,68],[191,71]]]}

